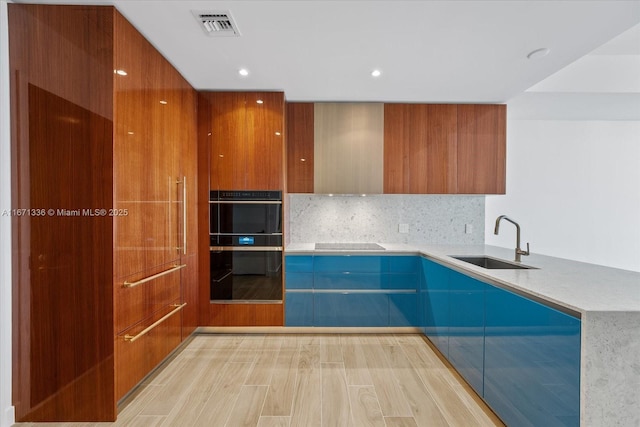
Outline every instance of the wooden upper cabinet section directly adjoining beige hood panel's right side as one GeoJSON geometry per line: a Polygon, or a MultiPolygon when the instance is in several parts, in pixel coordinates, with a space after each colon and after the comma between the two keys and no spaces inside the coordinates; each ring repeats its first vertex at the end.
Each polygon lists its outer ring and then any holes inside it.
{"type": "Polygon", "coordinates": [[[456,192],[455,105],[385,104],[384,192],[456,192]]]}

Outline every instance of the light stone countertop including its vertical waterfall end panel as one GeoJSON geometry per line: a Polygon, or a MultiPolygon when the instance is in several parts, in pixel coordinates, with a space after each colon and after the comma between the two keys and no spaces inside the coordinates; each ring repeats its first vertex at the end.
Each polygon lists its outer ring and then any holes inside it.
{"type": "Polygon", "coordinates": [[[531,270],[488,270],[449,255],[513,260],[495,246],[378,243],[386,250],[315,250],[294,243],[285,254],[418,254],[447,267],[560,306],[581,318],[580,426],[640,426],[640,273],[562,258],[522,257],[531,270]]]}

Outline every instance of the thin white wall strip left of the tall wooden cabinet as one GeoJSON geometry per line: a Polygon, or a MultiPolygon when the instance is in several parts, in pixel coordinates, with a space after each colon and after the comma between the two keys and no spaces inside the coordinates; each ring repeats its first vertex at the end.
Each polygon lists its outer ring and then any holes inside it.
{"type": "Polygon", "coordinates": [[[7,2],[0,1],[0,427],[14,423],[11,405],[11,206],[7,2]]]}

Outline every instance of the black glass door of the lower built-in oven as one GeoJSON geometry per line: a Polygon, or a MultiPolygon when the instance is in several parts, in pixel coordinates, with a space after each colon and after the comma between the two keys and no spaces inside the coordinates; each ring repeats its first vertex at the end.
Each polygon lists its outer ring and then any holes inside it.
{"type": "Polygon", "coordinates": [[[282,248],[211,248],[211,301],[281,302],[282,248]]]}

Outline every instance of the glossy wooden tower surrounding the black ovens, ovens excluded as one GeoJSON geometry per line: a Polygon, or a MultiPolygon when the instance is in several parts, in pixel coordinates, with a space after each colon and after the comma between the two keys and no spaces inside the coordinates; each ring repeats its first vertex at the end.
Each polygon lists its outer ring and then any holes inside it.
{"type": "Polygon", "coordinates": [[[200,325],[282,326],[278,303],[210,303],[209,190],[284,192],[284,94],[198,93],[200,325]]]}

